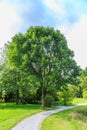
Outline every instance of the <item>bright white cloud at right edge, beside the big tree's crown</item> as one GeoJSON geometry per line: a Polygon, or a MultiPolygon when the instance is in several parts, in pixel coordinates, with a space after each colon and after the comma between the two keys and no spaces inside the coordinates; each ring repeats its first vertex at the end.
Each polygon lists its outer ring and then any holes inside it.
{"type": "Polygon", "coordinates": [[[87,14],[82,15],[72,29],[68,28],[68,33],[65,36],[69,48],[74,51],[78,65],[82,68],[87,67],[87,14]]]}

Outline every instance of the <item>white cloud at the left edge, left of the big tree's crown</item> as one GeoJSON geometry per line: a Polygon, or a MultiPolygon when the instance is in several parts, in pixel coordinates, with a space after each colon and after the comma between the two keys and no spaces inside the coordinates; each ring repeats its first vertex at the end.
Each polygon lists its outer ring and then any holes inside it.
{"type": "Polygon", "coordinates": [[[15,34],[20,23],[17,13],[6,3],[0,3],[0,47],[15,34]]]}

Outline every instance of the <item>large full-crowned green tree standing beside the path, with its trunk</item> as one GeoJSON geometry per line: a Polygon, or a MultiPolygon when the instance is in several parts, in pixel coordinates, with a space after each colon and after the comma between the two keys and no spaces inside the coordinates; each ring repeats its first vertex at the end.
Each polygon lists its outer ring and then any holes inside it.
{"type": "Polygon", "coordinates": [[[30,27],[25,34],[15,35],[8,45],[10,66],[37,78],[42,108],[47,88],[76,81],[78,66],[73,56],[63,34],[50,27],[30,27]]]}

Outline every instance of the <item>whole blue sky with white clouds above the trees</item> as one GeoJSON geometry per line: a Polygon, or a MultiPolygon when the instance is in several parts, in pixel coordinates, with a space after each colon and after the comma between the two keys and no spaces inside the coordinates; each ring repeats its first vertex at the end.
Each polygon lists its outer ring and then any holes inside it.
{"type": "Polygon", "coordinates": [[[65,35],[77,64],[85,68],[86,24],[87,0],[0,0],[0,47],[30,26],[50,26],[65,35]]]}

